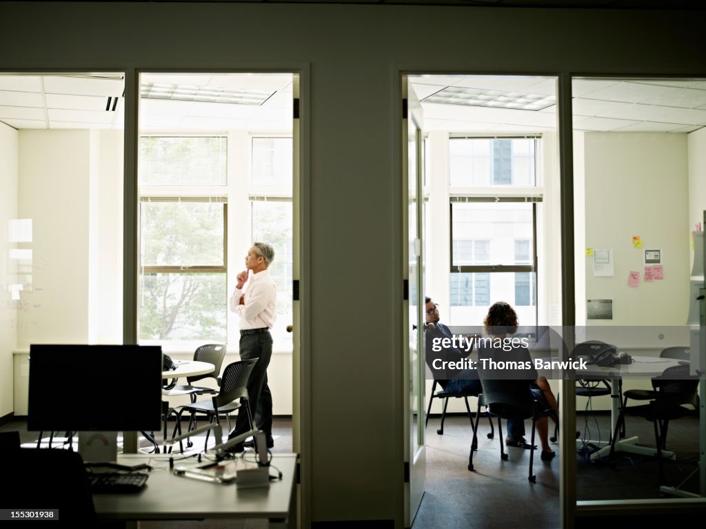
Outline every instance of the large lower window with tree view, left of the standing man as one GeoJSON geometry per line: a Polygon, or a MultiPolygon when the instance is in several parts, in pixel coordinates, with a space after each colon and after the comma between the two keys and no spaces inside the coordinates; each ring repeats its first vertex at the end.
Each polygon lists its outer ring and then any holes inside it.
{"type": "Polygon", "coordinates": [[[225,199],[141,199],[141,340],[225,343],[226,218],[225,199]]]}

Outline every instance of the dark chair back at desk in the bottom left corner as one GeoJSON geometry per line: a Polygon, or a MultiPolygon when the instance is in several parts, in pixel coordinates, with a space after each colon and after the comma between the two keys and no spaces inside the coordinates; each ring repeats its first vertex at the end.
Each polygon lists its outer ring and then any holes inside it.
{"type": "MultiPolygon", "coordinates": [[[[4,452],[6,475],[4,504],[12,509],[59,509],[61,527],[95,521],[95,506],[88,473],[78,452],[63,449],[18,448],[4,452]]],[[[47,518],[47,520],[50,518],[47,518]]],[[[32,524],[32,521],[23,521],[32,524]]],[[[46,520],[37,523],[44,525],[46,520]]],[[[49,525],[54,525],[49,523],[49,525]]]]}

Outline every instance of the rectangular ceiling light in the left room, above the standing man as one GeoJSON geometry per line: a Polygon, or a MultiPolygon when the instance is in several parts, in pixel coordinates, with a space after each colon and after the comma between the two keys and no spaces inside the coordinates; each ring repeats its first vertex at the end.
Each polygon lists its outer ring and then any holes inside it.
{"type": "Polygon", "coordinates": [[[171,99],[173,101],[261,105],[274,94],[275,92],[264,90],[226,90],[225,88],[172,83],[142,83],[140,85],[140,97],[171,99]]]}

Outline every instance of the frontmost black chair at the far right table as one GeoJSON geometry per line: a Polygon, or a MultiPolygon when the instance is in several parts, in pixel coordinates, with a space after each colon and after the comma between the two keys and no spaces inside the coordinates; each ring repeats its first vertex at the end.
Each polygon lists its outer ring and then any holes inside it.
{"type": "MultiPolygon", "coordinates": [[[[652,399],[650,403],[642,404],[641,406],[630,406],[629,408],[623,403],[621,417],[618,418],[616,432],[614,432],[611,442],[609,460],[613,461],[617,430],[624,420],[626,413],[638,415],[646,420],[650,420],[654,427],[654,444],[657,447],[656,455],[659,464],[659,482],[662,483],[664,478],[662,470],[662,450],[666,449],[666,433],[669,427],[669,421],[691,413],[691,410],[685,408],[684,405],[697,406],[698,384],[699,378],[689,375],[688,365],[667,367],[661,376],[652,379],[654,399],[652,399]]],[[[626,394],[627,393],[626,391],[626,394]]]]}

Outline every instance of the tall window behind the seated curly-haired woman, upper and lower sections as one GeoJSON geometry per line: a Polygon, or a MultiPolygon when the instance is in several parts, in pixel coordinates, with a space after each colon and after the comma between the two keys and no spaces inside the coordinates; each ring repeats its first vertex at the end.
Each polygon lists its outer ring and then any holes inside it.
{"type": "Polygon", "coordinates": [[[480,324],[489,305],[515,306],[537,323],[538,138],[450,138],[450,305],[455,324],[480,324]],[[497,196],[473,188],[505,186],[497,196]],[[455,188],[455,189],[454,189],[455,188]],[[511,188],[518,188],[513,193],[511,188]]]}

